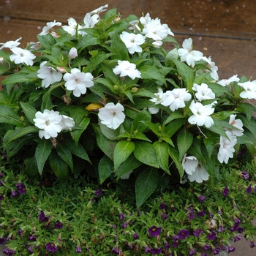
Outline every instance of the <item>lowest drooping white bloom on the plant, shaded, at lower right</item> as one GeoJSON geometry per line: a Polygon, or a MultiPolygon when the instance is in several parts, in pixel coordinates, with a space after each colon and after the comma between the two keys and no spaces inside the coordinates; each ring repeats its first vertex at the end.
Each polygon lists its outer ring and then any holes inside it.
{"type": "Polygon", "coordinates": [[[189,178],[189,181],[191,182],[196,181],[197,183],[202,183],[203,181],[207,181],[209,178],[209,174],[206,169],[196,157],[187,157],[187,154],[185,154],[182,159],[182,167],[187,173],[187,178],[189,178]]]}

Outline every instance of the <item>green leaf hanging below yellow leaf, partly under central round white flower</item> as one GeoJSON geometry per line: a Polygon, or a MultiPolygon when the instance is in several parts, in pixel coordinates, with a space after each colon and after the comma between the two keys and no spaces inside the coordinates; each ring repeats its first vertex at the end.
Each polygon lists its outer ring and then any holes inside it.
{"type": "Polygon", "coordinates": [[[105,155],[107,155],[110,159],[113,160],[114,149],[116,147],[117,142],[111,141],[105,138],[105,136],[102,134],[102,131],[100,130],[97,124],[92,124],[92,127],[94,128],[94,132],[96,132],[96,135],[97,135],[96,137],[97,145],[105,155]]]}

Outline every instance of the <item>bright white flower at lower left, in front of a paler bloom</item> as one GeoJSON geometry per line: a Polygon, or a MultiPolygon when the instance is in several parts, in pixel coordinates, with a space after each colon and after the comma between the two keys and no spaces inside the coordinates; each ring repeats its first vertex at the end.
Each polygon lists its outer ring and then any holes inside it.
{"type": "Polygon", "coordinates": [[[33,121],[34,125],[40,129],[39,138],[56,138],[58,132],[61,132],[62,127],[59,125],[61,115],[58,111],[45,109],[43,113],[38,111],[35,116],[36,118],[34,118],[33,121]]]}

